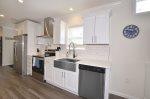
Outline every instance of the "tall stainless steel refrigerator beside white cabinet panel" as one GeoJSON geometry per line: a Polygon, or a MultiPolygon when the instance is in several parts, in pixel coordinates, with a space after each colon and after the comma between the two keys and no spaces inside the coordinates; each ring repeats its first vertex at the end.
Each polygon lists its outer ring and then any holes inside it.
{"type": "Polygon", "coordinates": [[[14,69],[27,75],[27,35],[18,35],[14,39],[14,69]]]}

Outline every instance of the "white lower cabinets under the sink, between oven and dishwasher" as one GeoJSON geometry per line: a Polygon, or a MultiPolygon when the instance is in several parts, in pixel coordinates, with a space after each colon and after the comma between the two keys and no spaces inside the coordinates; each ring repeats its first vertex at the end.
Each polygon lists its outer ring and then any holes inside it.
{"type": "Polygon", "coordinates": [[[44,79],[47,83],[78,95],[78,70],[76,72],[54,67],[54,58],[44,59],[44,79]]]}

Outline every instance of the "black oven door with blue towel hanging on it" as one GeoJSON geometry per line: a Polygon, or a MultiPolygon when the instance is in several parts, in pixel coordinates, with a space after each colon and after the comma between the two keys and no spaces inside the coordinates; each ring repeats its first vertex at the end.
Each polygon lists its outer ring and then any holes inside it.
{"type": "Polygon", "coordinates": [[[33,57],[32,70],[44,75],[44,58],[33,57]]]}

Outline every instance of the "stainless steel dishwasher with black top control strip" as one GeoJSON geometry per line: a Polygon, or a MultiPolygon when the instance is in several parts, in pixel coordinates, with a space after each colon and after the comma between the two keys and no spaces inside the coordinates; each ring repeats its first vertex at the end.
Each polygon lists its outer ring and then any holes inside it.
{"type": "Polygon", "coordinates": [[[105,69],[79,64],[79,96],[104,99],[105,69]]]}

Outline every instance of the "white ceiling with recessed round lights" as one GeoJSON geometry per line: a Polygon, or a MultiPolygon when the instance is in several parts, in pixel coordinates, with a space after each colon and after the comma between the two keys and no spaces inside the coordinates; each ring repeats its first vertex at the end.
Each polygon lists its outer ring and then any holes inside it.
{"type": "Polygon", "coordinates": [[[0,21],[57,17],[72,13],[70,7],[80,11],[115,1],[118,0],[24,0],[21,4],[18,0],[0,0],[0,13],[5,15],[0,21]]]}

